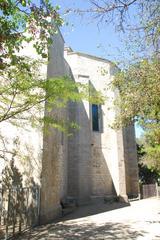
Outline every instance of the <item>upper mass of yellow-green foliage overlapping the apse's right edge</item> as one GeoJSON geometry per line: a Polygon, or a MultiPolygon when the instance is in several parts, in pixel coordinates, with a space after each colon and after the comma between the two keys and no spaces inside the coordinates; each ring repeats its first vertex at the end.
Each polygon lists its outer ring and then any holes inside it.
{"type": "Polygon", "coordinates": [[[143,60],[119,72],[112,82],[119,89],[115,104],[121,109],[115,125],[133,121],[145,128],[159,128],[160,123],[160,62],[143,60]]]}

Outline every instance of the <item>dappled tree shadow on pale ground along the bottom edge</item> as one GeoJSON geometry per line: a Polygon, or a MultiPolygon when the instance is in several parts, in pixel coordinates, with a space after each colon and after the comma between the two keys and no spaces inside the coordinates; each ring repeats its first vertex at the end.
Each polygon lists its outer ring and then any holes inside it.
{"type": "Polygon", "coordinates": [[[47,228],[37,228],[32,232],[26,233],[21,240],[102,240],[102,239],[137,239],[143,237],[145,232],[138,232],[127,224],[105,223],[97,226],[95,224],[77,224],[77,223],[57,223],[47,228]]]}

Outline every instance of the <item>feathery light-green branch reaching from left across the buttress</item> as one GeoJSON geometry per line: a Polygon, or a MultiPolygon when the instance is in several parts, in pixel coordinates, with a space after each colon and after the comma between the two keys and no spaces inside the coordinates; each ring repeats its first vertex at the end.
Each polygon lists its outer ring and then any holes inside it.
{"type": "MultiPolygon", "coordinates": [[[[28,120],[35,125],[39,122],[48,124],[59,129],[65,129],[67,123],[60,119],[53,119],[53,116],[44,117],[40,114],[44,102],[47,101],[46,110],[64,108],[69,101],[88,101],[102,102],[100,93],[90,91],[90,86],[75,83],[68,77],[57,77],[44,79],[40,75],[40,61],[33,61],[25,58],[27,68],[21,65],[6,68],[3,72],[0,83],[0,122],[9,120],[12,123],[23,125],[28,120]],[[90,94],[89,94],[90,92],[90,94]],[[19,120],[19,121],[18,121],[19,120]]],[[[73,123],[70,123],[73,126],[73,123]]]]}

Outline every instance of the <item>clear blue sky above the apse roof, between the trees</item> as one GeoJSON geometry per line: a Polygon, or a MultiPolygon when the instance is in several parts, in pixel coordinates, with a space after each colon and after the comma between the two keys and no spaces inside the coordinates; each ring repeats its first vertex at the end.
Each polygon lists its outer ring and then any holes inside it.
{"type": "MultiPolygon", "coordinates": [[[[121,41],[118,33],[115,33],[113,26],[106,24],[97,24],[97,20],[90,14],[80,16],[70,12],[65,14],[65,9],[85,9],[90,8],[87,0],[57,0],[56,3],[61,6],[60,12],[65,23],[61,28],[65,43],[73,50],[84,52],[99,57],[105,57],[116,61],[119,55],[121,41]]],[[[121,46],[122,47],[122,46],[121,46]]]]}

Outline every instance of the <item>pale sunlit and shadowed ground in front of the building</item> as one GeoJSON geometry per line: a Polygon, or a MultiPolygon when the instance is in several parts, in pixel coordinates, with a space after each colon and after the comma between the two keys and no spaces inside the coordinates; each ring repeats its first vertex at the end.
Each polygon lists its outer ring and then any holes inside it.
{"type": "Polygon", "coordinates": [[[26,232],[18,240],[160,240],[160,199],[97,203],[77,209],[57,223],[26,232]],[[116,208],[116,209],[115,209],[116,208]]]}

